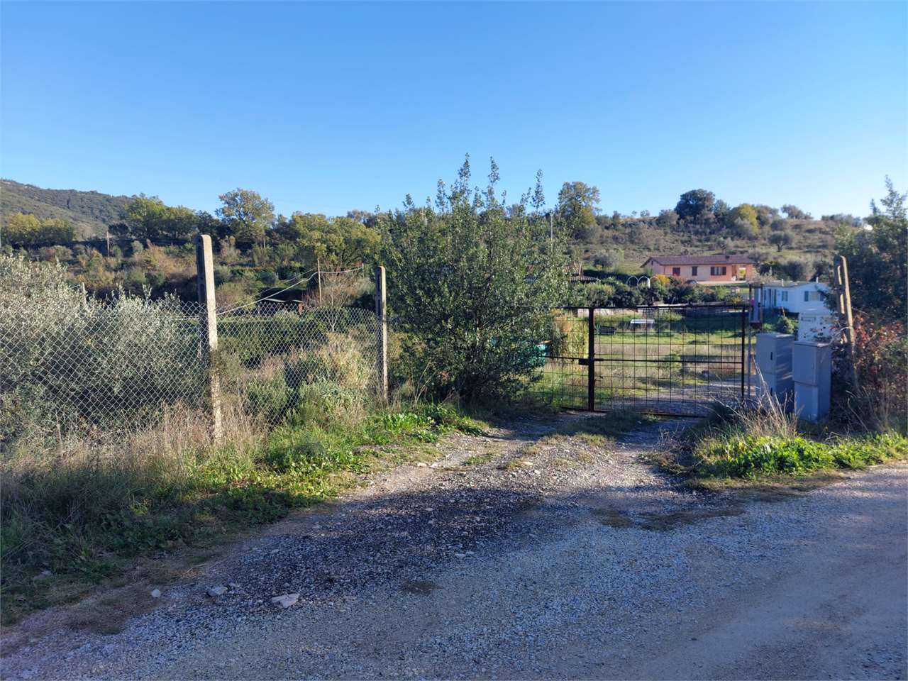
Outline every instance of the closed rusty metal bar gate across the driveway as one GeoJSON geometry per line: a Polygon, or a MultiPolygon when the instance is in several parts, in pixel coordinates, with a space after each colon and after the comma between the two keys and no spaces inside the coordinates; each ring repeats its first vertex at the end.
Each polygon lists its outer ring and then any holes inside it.
{"type": "Polygon", "coordinates": [[[564,409],[700,416],[749,388],[745,305],[565,308],[534,389],[564,409]]]}

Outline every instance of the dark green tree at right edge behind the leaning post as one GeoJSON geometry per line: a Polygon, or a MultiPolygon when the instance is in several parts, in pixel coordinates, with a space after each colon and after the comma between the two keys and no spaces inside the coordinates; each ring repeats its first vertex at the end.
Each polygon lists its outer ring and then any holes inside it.
{"type": "Polygon", "coordinates": [[[842,225],[835,248],[848,259],[852,303],[880,319],[905,318],[908,300],[908,192],[886,177],[886,195],[870,203],[870,229],[842,225]]]}

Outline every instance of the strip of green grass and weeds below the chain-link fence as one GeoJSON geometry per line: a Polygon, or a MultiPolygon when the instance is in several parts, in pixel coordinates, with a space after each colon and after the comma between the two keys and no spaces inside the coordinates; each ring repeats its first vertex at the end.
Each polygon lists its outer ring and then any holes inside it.
{"type": "Polygon", "coordinates": [[[3,621],[84,592],[135,557],[201,546],[332,498],[356,474],[422,457],[452,430],[483,431],[459,410],[422,405],[167,456],[104,459],[85,448],[65,461],[6,461],[3,621]],[[35,580],[44,571],[52,576],[35,580]]]}

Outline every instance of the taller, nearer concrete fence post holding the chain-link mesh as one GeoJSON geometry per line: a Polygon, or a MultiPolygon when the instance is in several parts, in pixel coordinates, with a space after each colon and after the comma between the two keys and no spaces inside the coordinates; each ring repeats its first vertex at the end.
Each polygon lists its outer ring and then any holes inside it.
{"type": "Polygon", "coordinates": [[[212,441],[220,444],[223,436],[221,418],[221,377],[218,375],[218,311],[214,300],[214,263],[212,238],[208,234],[195,237],[196,283],[199,291],[199,334],[202,367],[211,409],[212,441]]]}

